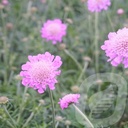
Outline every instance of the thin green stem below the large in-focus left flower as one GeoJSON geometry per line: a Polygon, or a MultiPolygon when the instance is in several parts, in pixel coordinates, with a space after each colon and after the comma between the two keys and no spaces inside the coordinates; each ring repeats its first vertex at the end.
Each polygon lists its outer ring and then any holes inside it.
{"type": "Polygon", "coordinates": [[[50,97],[51,105],[52,105],[53,128],[55,128],[55,109],[54,109],[54,101],[53,101],[52,91],[50,90],[49,87],[48,87],[48,92],[49,92],[49,97],[50,97]]]}

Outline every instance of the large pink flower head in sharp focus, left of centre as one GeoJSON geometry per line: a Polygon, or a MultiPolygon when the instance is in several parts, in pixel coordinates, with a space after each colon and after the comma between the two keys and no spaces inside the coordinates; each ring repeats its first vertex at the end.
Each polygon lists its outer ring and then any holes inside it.
{"type": "Polygon", "coordinates": [[[54,90],[54,85],[57,83],[56,76],[61,73],[58,70],[62,65],[61,58],[45,52],[45,54],[28,56],[28,60],[22,65],[23,71],[20,72],[20,76],[23,77],[22,84],[37,89],[39,93],[43,93],[47,85],[54,90]]]}

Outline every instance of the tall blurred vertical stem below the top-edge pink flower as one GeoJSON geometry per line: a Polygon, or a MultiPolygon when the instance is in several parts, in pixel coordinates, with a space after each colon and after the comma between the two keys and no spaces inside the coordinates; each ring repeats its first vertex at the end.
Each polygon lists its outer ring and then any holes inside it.
{"type": "Polygon", "coordinates": [[[94,45],[95,45],[95,70],[96,73],[99,71],[99,46],[98,46],[98,12],[95,13],[95,40],[94,40],[94,45]]]}

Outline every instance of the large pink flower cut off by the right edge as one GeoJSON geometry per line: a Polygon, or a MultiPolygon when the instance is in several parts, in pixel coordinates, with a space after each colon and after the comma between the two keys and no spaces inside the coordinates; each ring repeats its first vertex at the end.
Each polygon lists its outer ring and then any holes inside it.
{"type": "Polygon", "coordinates": [[[118,66],[120,63],[124,67],[128,67],[128,28],[123,28],[117,32],[110,32],[108,40],[104,42],[101,49],[105,51],[113,66],[118,66]]]}

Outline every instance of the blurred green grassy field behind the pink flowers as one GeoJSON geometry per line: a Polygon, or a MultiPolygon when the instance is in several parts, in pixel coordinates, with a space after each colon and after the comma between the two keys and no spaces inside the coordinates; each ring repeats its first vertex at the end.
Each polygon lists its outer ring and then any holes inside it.
{"type": "MultiPolygon", "coordinates": [[[[0,4],[0,97],[9,99],[7,103],[0,101],[0,128],[53,128],[48,90],[39,94],[24,87],[19,76],[28,55],[46,51],[59,55],[63,62],[56,89],[52,91],[56,128],[88,128],[72,105],[61,110],[59,99],[69,93],[80,93],[80,109],[89,118],[101,119],[102,124],[102,119],[114,112],[116,101],[100,115],[91,115],[89,104],[94,108],[102,104],[105,96],[101,94],[97,99],[101,102],[96,104],[95,94],[111,88],[111,83],[98,76],[87,93],[83,87],[88,85],[83,81],[96,73],[112,72],[128,81],[128,70],[123,65],[113,67],[101,50],[108,33],[123,27],[128,27],[128,0],[111,0],[108,10],[99,13],[89,12],[86,0],[9,0],[8,5],[0,4]],[[124,9],[124,14],[117,14],[119,8],[124,9]],[[53,45],[41,38],[40,30],[48,19],[56,18],[67,24],[67,34],[61,43],[53,45]]],[[[119,120],[107,127],[128,128],[128,102],[122,111],[119,120]]]]}

